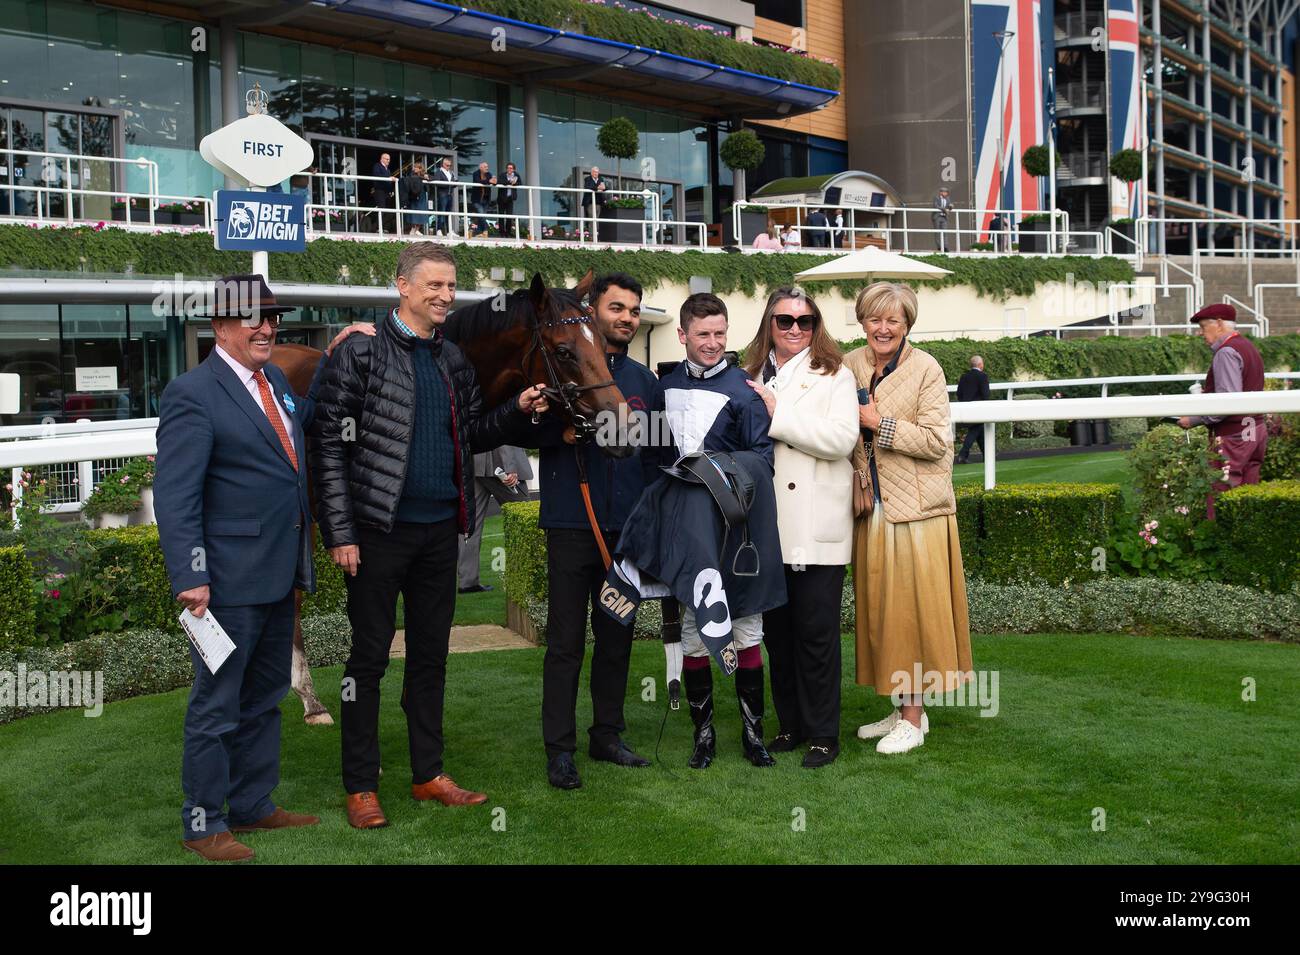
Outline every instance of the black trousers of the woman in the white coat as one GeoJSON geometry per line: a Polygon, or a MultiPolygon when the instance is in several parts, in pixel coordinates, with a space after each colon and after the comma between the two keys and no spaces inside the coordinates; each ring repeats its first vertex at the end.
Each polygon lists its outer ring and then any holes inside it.
{"type": "Polygon", "coordinates": [[[840,596],[844,565],[785,565],[784,607],[763,615],[772,706],[794,739],[840,738],[840,596]]]}

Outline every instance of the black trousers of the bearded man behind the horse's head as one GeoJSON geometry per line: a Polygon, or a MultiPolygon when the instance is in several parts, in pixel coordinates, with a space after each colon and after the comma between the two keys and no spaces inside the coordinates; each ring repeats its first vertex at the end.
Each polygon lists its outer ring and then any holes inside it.
{"type": "MultiPolygon", "coordinates": [[[[606,543],[618,533],[604,531],[606,543]]],[[[590,530],[546,531],[546,657],[542,661],[542,741],[546,755],[577,750],[577,681],[586,654],[590,615],[593,743],[616,741],[627,726],[623,699],[628,694],[632,625],[620,625],[599,607],[604,561],[590,530]]]]}

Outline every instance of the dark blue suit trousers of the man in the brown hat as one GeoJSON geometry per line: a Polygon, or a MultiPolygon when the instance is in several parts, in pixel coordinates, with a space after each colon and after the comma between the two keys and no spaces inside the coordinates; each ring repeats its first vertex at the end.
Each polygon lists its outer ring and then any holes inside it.
{"type": "Polygon", "coordinates": [[[280,702],[294,659],[294,591],[276,603],[208,607],[235,648],[216,673],[190,647],[194,687],[181,758],[183,838],[265,819],[280,783],[280,702]],[[226,803],[230,812],[226,813],[226,803]]]}

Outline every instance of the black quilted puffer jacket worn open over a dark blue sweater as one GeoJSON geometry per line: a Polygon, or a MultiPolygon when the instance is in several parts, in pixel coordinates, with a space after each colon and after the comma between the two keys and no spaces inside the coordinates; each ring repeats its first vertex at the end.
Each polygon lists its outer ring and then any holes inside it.
{"type": "MultiPolygon", "coordinates": [[[[474,452],[506,443],[504,427],[526,420],[515,399],[481,413],[478,382],[462,351],[436,333],[434,360],[451,392],[460,533],[474,513],[474,452]]],[[[391,321],[370,335],[348,335],[321,378],[312,422],[316,520],[326,547],[358,543],[358,524],[393,530],[406,486],[415,414],[412,340],[391,321]]]]}

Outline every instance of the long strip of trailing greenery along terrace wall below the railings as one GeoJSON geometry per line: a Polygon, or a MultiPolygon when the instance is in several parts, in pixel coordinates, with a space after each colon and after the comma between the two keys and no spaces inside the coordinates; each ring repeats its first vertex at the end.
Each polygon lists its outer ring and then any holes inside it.
{"type": "MultiPolygon", "coordinates": [[[[272,252],[270,273],[281,282],[390,286],[398,253],[406,244],[399,240],[313,239],[307,243],[304,252],[272,252]]],[[[515,269],[521,269],[529,278],[534,272],[540,272],[552,285],[564,281],[577,282],[588,269],[593,269],[597,274],[630,273],[651,290],[666,282],[688,285],[692,275],[707,275],[719,295],[766,294],[770,288],[790,285],[794,273],[823,261],[822,256],[809,253],[737,256],[693,249],[615,252],[547,248],[546,243],[526,248],[462,244],[454,251],[459,281],[465,287],[488,281],[494,268],[506,269],[507,275],[512,275],[515,269]]],[[[1010,295],[1031,295],[1040,283],[1065,281],[1069,273],[1075,274],[1079,281],[1092,282],[1131,282],[1134,275],[1132,268],[1119,259],[1067,256],[972,260],[937,255],[918,257],[953,272],[952,275],[928,285],[933,287],[968,285],[980,295],[998,300],[1010,295]]],[[[212,236],[207,233],[153,234],[112,227],[96,230],[92,226],[31,229],[0,225],[0,262],[12,269],[30,272],[166,278],[182,273],[192,279],[248,272],[252,268],[250,253],[218,252],[212,247],[212,236]]],[[[855,296],[862,286],[863,282],[857,279],[806,285],[814,294],[833,287],[849,298],[855,296]]],[[[980,347],[984,344],[994,343],[980,343],[980,347]]],[[[930,346],[926,347],[928,350],[930,346]]],[[[1208,356],[1204,344],[1201,348],[1208,356]]],[[[984,353],[988,353],[988,350],[984,350],[984,353]]],[[[962,361],[967,361],[970,355],[971,352],[966,351],[962,361]]],[[[1200,364],[1206,363],[1208,357],[1200,364]]]]}

